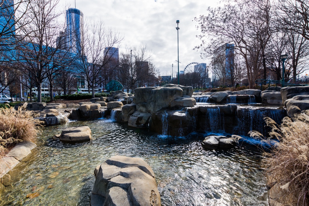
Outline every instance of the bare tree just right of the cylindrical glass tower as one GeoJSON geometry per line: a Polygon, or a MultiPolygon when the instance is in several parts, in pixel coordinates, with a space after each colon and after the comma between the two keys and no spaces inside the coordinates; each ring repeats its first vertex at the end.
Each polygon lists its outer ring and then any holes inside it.
{"type": "Polygon", "coordinates": [[[123,37],[105,28],[103,21],[90,22],[83,31],[78,70],[86,78],[88,91],[91,88],[94,98],[95,87],[103,84],[119,65],[111,52],[112,48],[119,47],[123,37]]]}

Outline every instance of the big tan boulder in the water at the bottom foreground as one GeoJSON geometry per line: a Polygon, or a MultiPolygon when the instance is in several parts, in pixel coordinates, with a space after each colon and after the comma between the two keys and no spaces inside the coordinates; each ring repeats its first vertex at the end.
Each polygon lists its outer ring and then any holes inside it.
{"type": "Polygon", "coordinates": [[[112,157],[94,173],[91,206],[161,205],[155,174],[140,158],[112,157]]]}

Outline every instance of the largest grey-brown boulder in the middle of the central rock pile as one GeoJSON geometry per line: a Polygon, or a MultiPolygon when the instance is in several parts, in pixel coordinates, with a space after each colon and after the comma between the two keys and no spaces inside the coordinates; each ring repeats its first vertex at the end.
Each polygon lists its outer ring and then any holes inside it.
{"type": "MultiPolygon", "coordinates": [[[[148,112],[154,113],[161,109],[171,108],[171,102],[180,98],[183,91],[179,87],[162,87],[151,90],[148,98],[148,112]]],[[[135,97],[136,98],[136,97],[135,97]]]]}

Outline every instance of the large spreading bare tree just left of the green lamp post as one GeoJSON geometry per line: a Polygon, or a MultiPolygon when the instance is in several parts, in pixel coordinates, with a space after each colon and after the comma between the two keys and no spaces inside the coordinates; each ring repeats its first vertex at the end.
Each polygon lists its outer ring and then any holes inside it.
{"type": "Polygon", "coordinates": [[[244,58],[252,88],[263,68],[261,56],[272,33],[270,9],[268,0],[224,1],[222,7],[208,8],[208,15],[195,18],[202,32],[198,36],[202,44],[196,48],[202,48],[203,55],[211,56],[220,45],[234,44],[236,54],[244,58]],[[205,41],[208,37],[210,44],[205,41]]]}

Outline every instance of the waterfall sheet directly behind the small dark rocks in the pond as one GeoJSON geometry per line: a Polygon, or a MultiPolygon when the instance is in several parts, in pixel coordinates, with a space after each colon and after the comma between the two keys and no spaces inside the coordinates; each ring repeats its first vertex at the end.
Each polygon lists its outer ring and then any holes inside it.
{"type": "Polygon", "coordinates": [[[219,107],[207,108],[206,130],[207,128],[210,130],[210,132],[218,132],[224,130],[224,118],[222,118],[221,116],[222,114],[219,107]]]}

